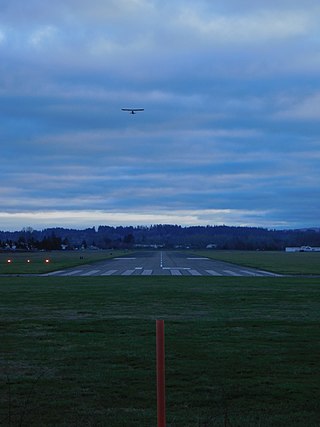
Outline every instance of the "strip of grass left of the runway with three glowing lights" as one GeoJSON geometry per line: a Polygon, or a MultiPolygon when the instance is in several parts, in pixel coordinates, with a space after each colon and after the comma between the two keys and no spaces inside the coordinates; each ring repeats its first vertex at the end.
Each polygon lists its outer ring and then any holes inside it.
{"type": "Polygon", "coordinates": [[[2,252],[0,274],[40,274],[82,264],[91,264],[126,251],[52,251],[52,252],[2,252]],[[10,260],[10,262],[8,262],[10,260]],[[48,262],[47,262],[48,260],[48,262]]]}

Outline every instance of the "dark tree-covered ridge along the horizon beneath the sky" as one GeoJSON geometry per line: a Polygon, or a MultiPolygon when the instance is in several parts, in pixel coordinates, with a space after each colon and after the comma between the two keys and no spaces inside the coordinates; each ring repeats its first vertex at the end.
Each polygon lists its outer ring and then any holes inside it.
{"type": "Polygon", "coordinates": [[[258,227],[152,225],[138,227],[100,226],[74,230],[30,227],[0,231],[1,250],[73,249],[242,249],[283,250],[287,246],[320,246],[320,228],[270,230],[258,227]]]}

